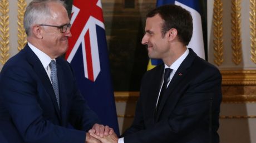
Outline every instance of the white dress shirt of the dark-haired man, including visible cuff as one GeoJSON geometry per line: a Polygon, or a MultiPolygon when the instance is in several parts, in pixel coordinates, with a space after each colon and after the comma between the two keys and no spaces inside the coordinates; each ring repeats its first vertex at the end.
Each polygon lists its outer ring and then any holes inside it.
{"type": "MultiPolygon", "coordinates": [[[[170,74],[169,82],[168,82],[167,86],[170,84],[171,79],[173,79],[174,74],[176,73],[176,71],[177,71],[178,68],[180,67],[180,64],[181,64],[181,63],[184,61],[184,59],[188,56],[188,54],[189,54],[189,49],[186,49],[186,51],[185,51],[177,60],[175,60],[175,62],[174,62],[173,64],[171,64],[170,67],[168,67],[168,65],[165,64],[165,69],[166,69],[166,68],[173,69],[173,72],[171,72],[171,74],[170,74]]],[[[164,74],[163,74],[163,76],[162,76],[161,89],[162,89],[163,84],[164,84],[164,74]]],[[[157,98],[157,101],[156,101],[156,105],[157,105],[157,103],[158,103],[158,99],[159,99],[159,95],[160,95],[161,89],[160,89],[159,94],[158,94],[158,98],[157,98]]],[[[124,137],[120,138],[120,139],[118,140],[118,143],[125,143],[125,142],[124,142],[124,137]]]]}

